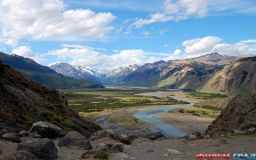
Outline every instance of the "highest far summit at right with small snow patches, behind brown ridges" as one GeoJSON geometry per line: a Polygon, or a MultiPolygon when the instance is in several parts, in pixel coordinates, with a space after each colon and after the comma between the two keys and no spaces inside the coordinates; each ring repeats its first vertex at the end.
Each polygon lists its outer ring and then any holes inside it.
{"type": "Polygon", "coordinates": [[[228,65],[234,61],[237,61],[241,57],[236,56],[230,56],[226,54],[219,54],[219,53],[210,53],[206,54],[200,57],[191,58],[191,59],[184,59],[186,61],[190,62],[199,62],[199,63],[205,63],[205,64],[218,64],[218,65],[228,65]]]}

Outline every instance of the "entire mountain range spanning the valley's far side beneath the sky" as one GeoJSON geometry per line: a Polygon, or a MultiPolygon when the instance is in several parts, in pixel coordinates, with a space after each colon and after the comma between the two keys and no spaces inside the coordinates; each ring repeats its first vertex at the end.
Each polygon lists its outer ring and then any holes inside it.
{"type": "Polygon", "coordinates": [[[256,91],[256,57],[210,53],[184,60],[157,61],[114,69],[108,75],[93,67],[56,63],[49,67],[18,55],[0,59],[26,77],[57,89],[104,87],[99,84],[190,89],[202,92],[256,91]],[[57,73],[58,72],[58,73],[57,73]]]}

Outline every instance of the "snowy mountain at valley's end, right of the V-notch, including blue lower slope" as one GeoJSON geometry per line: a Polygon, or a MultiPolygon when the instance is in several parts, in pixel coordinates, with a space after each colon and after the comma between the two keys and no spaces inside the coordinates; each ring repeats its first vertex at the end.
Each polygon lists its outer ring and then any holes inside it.
{"type": "Polygon", "coordinates": [[[120,79],[122,79],[126,75],[136,71],[138,67],[139,67],[138,65],[134,64],[134,65],[129,65],[128,67],[119,67],[117,69],[114,69],[105,77],[105,81],[107,83],[117,83],[118,81],[120,81],[120,79]]]}

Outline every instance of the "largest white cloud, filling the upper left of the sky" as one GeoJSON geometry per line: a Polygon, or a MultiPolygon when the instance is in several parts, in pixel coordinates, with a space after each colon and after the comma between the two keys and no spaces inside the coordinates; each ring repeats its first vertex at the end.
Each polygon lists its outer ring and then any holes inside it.
{"type": "Polygon", "coordinates": [[[2,0],[0,6],[1,42],[12,46],[22,38],[100,38],[114,29],[108,24],[116,18],[109,12],[67,10],[62,0],[2,0]]]}

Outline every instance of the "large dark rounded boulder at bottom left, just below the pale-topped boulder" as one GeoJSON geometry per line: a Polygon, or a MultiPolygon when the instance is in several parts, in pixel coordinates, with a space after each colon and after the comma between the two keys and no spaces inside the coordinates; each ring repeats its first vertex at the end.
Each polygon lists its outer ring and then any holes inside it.
{"type": "Polygon", "coordinates": [[[58,150],[54,142],[48,138],[38,138],[26,143],[22,143],[17,147],[17,150],[31,152],[42,160],[55,160],[58,157],[58,150]]]}

